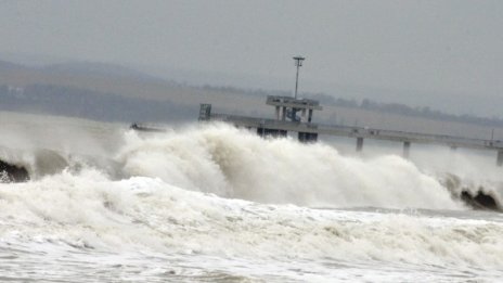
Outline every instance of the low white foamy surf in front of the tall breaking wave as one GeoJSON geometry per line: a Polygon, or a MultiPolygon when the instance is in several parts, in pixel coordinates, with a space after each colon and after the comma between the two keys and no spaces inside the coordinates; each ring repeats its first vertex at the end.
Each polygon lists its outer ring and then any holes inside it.
{"type": "Polygon", "coordinates": [[[186,257],[196,266],[204,258],[236,259],[230,274],[243,268],[241,261],[280,270],[293,261],[299,273],[314,268],[332,275],[337,267],[427,269],[439,278],[463,272],[491,278],[501,275],[503,266],[502,219],[266,205],[191,192],[160,179],[111,181],[92,170],[2,184],[0,198],[4,250],[28,253],[36,246],[42,254],[55,248],[91,258],[125,253],[140,261],[186,257]]]}

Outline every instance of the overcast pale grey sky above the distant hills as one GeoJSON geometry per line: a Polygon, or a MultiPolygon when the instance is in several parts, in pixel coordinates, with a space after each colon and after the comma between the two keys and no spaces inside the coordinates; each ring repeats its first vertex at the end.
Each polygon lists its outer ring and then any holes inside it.
{"type": "Polygon", "coordinates": [[[0,0],[0,54],[285,90],[301,54],[301,91],[500,117],[502,30],[503,1],[0,0]]]}

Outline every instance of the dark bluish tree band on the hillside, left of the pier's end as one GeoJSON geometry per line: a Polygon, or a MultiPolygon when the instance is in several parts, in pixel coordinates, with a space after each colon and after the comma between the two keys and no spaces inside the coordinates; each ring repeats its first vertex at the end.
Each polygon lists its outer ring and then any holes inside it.
{"type": "Polygon", "coordinates": [[[197,106],[168,100],[125,98],[75,87],[30,85],[0,86],[0,110],[49,113],[106,121],[170,121],[194,119],[197,106]]]}

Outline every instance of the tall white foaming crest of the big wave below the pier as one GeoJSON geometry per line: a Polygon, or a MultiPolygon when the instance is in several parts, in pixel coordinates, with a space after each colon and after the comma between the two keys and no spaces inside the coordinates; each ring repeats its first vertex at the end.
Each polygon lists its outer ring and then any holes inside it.
{"type": "Polygon", "coordinates": [[[388,155],[364,160],[323,143],[261,139],[227,125],[126,134],[125,172],[177,186],[263,203],[459,209],[433,177],[388,155]]]}

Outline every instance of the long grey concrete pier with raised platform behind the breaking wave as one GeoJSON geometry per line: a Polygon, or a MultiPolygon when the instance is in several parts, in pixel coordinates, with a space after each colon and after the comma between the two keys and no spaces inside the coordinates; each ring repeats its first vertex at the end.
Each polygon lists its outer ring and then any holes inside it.
{"type": "Polygon", "coordinates": [[[255,128],[261,137],[286,137],[287,132],[298,132],[300,142],[315,142],[319,134],[356,138],[357,152],[363,150],[364,139],[396,141],[403,144],[404,158],[410,156],[412,143],[443,144],[451,150],[457,147],[492,150],[498,153],[496,165],[503,166],[503,141],[500,140],[313,124],[313,111],[322,110],[318,101],[288,97],[268,97],[267,104],[274,106],[275,119],[214,114],[210,104],[201,104],[199,120],[221,120],[236,127],[255,128]],[[296,116],[297,113],[300,113],[301,116],[296,116]]]}

